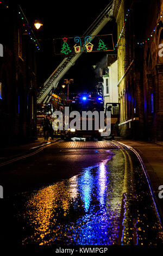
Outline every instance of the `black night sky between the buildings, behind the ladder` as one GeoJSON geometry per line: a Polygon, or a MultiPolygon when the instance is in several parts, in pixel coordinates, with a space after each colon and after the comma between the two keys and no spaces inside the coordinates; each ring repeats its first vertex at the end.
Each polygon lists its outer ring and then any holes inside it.
{"type": "MultiPolygon", "coordinates": [[[[38,54],[37,83],[39,87],[52,74],[65,55],[55,55],[53,38],[64,36],[82,36],[91,23],[108,5],[109,1],[78,2],[78,1],[18,1],[27,20],[32,24],[39,19],[43,26],[39,31],[34,29],[40,39],[42,51],[38,54]]],[[[115,22],[108,22],[100,34],[116,34],[115,22]]],[[[103,52],[83,53],[64,78],[73,78],[73,90],[95,90],[98,77],[92,65],[100,65],[105,57],[103,52]]],[[[63,78],[63,79],[64,79],[63,78]]],[[[62,83],[62,81],[60,82],[62,83]]]]}

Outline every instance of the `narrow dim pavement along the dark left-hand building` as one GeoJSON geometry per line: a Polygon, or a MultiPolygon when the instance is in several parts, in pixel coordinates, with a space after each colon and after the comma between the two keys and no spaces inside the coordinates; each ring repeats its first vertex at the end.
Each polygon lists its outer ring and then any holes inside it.
{"type": "Polygon", "coordinates": [[[59,138],[54,138],[53,140],[45,141],[44,138],[41,137],[31,143],[0,148],[0,162],[22,156],[29,153],[30,150],[34,150],[35,147],[43,147],[43,145],[46,145],[49,142],[53,143],[55,141],[58,141],[58,139],[59,138]]]}

